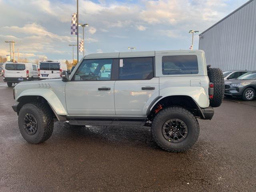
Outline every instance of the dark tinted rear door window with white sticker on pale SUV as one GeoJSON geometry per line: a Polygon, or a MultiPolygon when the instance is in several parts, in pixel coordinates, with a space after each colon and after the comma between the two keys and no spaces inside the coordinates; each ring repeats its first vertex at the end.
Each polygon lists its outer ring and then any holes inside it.
{"type": "Polygon", "coordinates": [[[146,80],[153,78],[153,58],[120,59],[119,80],[146,80]]]}

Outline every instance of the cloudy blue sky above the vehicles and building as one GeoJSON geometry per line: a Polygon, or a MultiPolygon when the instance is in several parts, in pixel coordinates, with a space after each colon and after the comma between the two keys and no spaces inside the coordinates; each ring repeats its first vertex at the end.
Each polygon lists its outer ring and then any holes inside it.
{"type": "MultiPolygon", "coordinates": [[[[202,32],[246,1],[79,0],[79,22],[90,25],[85,32],[86,54],[128,51],[129,46],[137,51],[188,49],[188,30],[202,32]]],[[[71,60],[68,44],[76,44],[76,36],[70,35],[74,12],[76,0],[0,0],[0,55],[9,54],[4,40],[14,40],[22,42],[15,46],[21,58],[71,60]]]]}

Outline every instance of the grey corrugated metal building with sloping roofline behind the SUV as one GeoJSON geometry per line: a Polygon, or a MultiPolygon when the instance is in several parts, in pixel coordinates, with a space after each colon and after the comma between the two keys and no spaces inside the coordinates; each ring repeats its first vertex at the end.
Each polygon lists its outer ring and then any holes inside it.
{"type": "Polygon", "coordinates": [[[250,0],[199,35],[206,62],[222,70],[256,70],[256,0],[250,0]]]}

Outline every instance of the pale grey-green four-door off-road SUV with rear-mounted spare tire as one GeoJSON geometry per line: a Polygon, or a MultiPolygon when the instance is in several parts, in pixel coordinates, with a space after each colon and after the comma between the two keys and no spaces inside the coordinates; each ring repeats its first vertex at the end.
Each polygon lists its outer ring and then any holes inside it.
{"type": "Polygon", "coordinates": [[[224,78],[202,50],[86,55],[70,76],[14,87],[12,106],[24,139],[46,141],[54,120],[71,125],[151,126],[164,150],[181,152],[198,139],[197,118],[212,119],[224,78]]]}

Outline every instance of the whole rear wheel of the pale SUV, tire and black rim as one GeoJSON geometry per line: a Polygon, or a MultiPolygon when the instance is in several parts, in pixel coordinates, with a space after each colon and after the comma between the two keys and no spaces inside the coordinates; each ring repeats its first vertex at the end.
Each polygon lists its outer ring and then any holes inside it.
{"type": "Polygon", "coordinates": [[[185,108],[168,107],[155,116],[151,133],[163,150],[183,152],[197,141],[199,124],[196,117],[185,108]]]}

